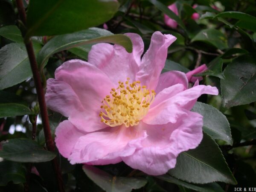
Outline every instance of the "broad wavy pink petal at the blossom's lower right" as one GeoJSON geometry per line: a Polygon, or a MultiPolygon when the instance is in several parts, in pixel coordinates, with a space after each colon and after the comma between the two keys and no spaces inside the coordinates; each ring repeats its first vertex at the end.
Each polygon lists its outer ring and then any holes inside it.
{"type": "Polygon", "coordinates": [[[122,160],[148,175],[163,175],[174,168],[178,154],[196,148],[203,137],[203,117],[198,113],[183,111],[187,113],[186,118],[178,119],[175,124],[144,124],[148,134],[142,142],[144,147],[131,156],[122,157],[122,160]]]}

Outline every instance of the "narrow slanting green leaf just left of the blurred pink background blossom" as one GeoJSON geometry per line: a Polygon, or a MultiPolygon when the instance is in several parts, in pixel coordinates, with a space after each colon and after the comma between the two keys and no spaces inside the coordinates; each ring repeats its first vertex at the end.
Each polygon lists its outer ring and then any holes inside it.
{"type": "Polygon", "coordinates": [[[163,13],[165,13],[166,15],[168,15],[170,18],[172,18],[173,20],[175,20],[179,26],[181,26],[183,29],[186,29],[184,23],[182,22],[182,20],[180,19],[180,17],[178,17],[174,12],[172,12],[167,6],[165,6],[163,3],[160,3],[160,1],[157,0],[148,0],[150,3],[152,3],[154,6],[157,7],[157,9],[159,9],[160,11],[162,11],[163,13]]]}

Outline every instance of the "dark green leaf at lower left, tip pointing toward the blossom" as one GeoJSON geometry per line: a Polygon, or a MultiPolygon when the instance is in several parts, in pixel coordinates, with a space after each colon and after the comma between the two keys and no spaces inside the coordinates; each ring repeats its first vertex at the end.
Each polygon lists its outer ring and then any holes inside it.
{"type": "Polygon", "coordinates": [[[2,142],[3,149],[0,151],[0,157],[5,160],[16,162],[45,162],[52,160],[56,154],[44,150],[35,141],[29,139],[11,139],[2,142]]]}

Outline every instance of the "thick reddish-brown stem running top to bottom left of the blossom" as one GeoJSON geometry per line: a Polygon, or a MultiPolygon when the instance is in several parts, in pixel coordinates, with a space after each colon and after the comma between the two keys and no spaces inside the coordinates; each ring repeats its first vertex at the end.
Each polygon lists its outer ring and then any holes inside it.
{"type": "MultiPolygon", "coordinates": [[[[23,22],[23,24],[26,25],[26,12],[23,6],[23,1],[16,0],[16,3],[17,3],[20,19],[23,22]]],[[[24,31],[22,33],[23,33],[22,34],[23,37],[25,37],[26,33],[24,31]]],[[[32,41],[30,38],[26,40],[25,45],[26,45],[28,56],[29,56],[29,62],[32,69],[33,79],[35,82],[35,88],[38,96],[38,103],[41,111],[42,124],[44,128],[45,143],[49,151],[55,151],[55,146],[52,140],[52,134],[51,134],[51,129],[49,125],[47,107],[46,107],[45,98],[44,98],[44,88],[41,82],[41,77],[38,70],[38,64],[35,58],[35,52],[34,52],[32,41]]],[[[61,177],[61,170],[58,166],[58,161],[56,157],[55,159],[52,160],[52,165],[57,177],[59,192],[64,192],[65,190],[63,186],[62,177],[61,177]]]]}

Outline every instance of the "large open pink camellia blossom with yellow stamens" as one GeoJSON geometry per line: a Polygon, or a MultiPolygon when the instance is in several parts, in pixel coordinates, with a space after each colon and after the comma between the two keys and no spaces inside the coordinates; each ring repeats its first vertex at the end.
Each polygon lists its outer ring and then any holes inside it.
{"type": "Polygon", "coordinates": [[[56,128],[59,152],[71,164],[106,165],[124,161],[149,175],[175,167],[182,151],[202,140],[203,116],[190,111],[201,94],[216,87],[188,87],[190,73],[161,74],[167,49],[176,38],[154,32],[144,50],[142,38],[126,34],[128,53],[119,45],[96,44],[88,62],[70,60],[47,81],[47,105],[68,120],[56,128]]]}

